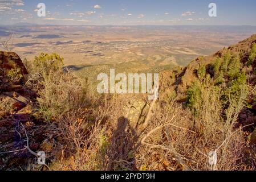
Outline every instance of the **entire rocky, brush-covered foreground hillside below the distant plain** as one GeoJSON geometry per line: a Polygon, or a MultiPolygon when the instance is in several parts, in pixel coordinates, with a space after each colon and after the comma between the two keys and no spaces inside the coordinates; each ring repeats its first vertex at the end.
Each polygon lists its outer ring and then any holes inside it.
{"type": "Polygon", "coordinates": [[[153,102],[95,94],[55,53],[23,62],[0,52],[0,169],[255,169],[256,35],[161,72],[153,102]]]}

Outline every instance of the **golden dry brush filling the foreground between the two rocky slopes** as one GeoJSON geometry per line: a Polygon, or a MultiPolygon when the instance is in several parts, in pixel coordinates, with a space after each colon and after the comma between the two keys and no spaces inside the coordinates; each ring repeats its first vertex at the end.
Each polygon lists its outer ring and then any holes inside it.
{"type": "Polygon", "coordinates": [[[73,73],[52,72],[31,83],[38,85],[40,116],[62,131],[51,170],[255,169],[255,155],[247,150],[242,129],[234,127],[246,93],[237,102],[230,97],[224,107],[220,93],[205,85],[196,116],[175,101],[157,102],[144,125],[140,115],[135,122],[124,111],[133,96],[92,94],[73,73]],[[215,150],[213,168],[208,153],[215,150]],[[243,154],[250,156],[247,161],[243,154]]]}

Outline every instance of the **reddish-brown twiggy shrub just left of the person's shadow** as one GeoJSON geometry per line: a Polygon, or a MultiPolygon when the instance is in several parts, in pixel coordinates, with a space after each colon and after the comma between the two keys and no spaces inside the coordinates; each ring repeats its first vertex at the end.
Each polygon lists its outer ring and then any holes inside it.
{"type": "MultiPolygon", "coordinates": [[[[52,170],[82,171],[101,170],[104,129],[97,124],[88,123],[84,115],[88,113],[78,110],[68,112],[59,121],[63,130],[63,142],[59,143],[61,156],[52,163],[52,170]]],[[[59,155],[59,154],[58,154],[59,155]]]]}

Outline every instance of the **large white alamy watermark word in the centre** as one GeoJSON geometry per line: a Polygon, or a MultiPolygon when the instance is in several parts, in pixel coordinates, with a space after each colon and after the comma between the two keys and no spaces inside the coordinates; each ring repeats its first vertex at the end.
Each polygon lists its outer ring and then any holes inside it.
{"type": "Polygon", "coordinates": [[[148,93],[148,100],[155,100],[159,97],[159,74],[155,73],[124,73],[115,75],[115,69],[110,69],[110,77],[105,73],[100,73],[97,80],[101,81],[97,85],[97,92],[100,94],[139,94],[148,93]]]}

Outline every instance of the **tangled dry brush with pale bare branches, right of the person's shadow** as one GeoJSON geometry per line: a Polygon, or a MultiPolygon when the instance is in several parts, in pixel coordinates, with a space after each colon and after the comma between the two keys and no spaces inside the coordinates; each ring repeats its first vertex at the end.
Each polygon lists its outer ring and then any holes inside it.
{"type": "Polygon", "coordinates": [[[201,98],[193,114],[172,102],[157,106],[147,132],[162,126],[147,138],[137,151],[140,167],[148,170],[236,170],[243,156],[245,138],[235,129],[239,111],[246,99],[241,90],[238,100],[230,96],[227,104],[221,101],[221,90],[210,85],[201,87],[201,98]],[[195,114],[196,113],[196,114],[195,114]],[[210,151],[217,151],[217,165],[208,163],[210,151]]]}

